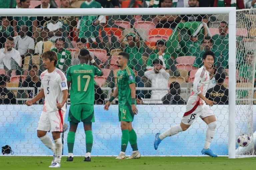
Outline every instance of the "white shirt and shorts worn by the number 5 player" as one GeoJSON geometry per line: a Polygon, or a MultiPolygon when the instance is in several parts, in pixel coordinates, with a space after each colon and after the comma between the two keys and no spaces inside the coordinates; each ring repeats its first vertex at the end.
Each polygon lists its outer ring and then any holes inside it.
{"type": "Polygon", "coordinates": [[[66,113],[66,104],[61,110],[57,108],[57,103],[63,99],[63,90],[67,90],[67,79],[65,74],[58,68],[51,73],[45,70],[41,73],[41,88],[44,90],[43,112],[38,122],[37,130],[62,131],[63,119],[66,113]]]}

